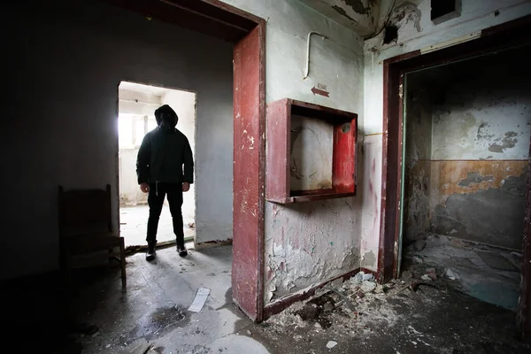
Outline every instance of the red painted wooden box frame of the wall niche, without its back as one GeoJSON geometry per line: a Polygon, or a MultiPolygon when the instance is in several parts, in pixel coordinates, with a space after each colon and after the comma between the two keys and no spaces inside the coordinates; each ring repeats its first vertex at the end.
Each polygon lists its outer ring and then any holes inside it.
{"type": "Polygon", "coordinates": [[[290,98],[267,104],[267,200],[291,204],[356,194],[358,114],[290,98]],[[332,188],[290,190],[291,115],[326,121],[333,127],[332,188]]]}

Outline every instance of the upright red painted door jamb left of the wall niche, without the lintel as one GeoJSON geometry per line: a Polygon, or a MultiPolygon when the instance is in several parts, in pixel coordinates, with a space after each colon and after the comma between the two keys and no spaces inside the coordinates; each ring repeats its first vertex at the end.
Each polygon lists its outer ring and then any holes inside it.
{"type": "Polygon", "coordinates": [[[235,44],[234,212],[232,291],[250,319],[263,312],[265,26],[235,44]]]}

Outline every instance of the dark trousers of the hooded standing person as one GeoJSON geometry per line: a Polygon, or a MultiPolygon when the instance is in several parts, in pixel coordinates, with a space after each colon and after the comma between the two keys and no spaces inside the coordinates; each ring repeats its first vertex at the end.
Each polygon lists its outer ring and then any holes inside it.
{"type": "Polygon", "coordinates": [[[165,196],[168,196],[170,212],[173,218],[173,234],[176,236],[177,247],[184,247],[184,230],[182,225],[182,184],[181,183],[150,183],[150,219],[148,219],[148,244],[157,243],[158,218],[162,212],[165,196]]]}

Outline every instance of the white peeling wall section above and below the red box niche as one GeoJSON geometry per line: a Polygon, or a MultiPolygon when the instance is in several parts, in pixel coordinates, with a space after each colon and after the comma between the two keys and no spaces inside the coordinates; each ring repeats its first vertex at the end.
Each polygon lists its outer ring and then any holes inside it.
{"type": "MultiPolygon", "coordinates": [[[[267,19],[266,101],[289,97],[360,116],[363,50],[358,35],[296,0],[225,0],[267,19]],[[310,76],[303,80],[306,37],[310,76]],[[330,97],[312,94],[318,83],[330,97]]],[[[359,266],[360,198],[278,207],[266,203],[266,301],[326,281],[359,266]]]]}

